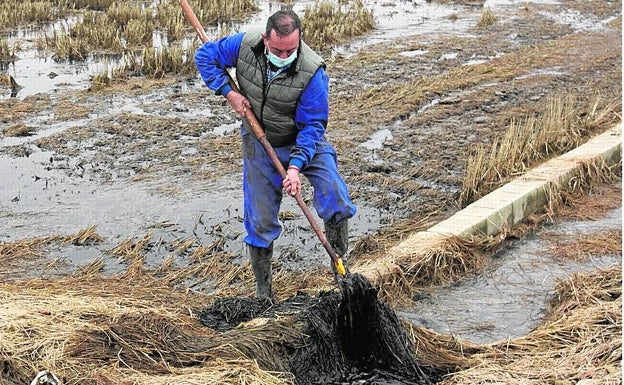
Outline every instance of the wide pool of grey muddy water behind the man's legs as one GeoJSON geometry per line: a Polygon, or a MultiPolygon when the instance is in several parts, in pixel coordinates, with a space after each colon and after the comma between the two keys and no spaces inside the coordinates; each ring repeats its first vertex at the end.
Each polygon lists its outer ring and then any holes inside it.
{"type": "MultiPolygon", "coordinates": [[[[163,244],[162,248],[150,250],[150,265],[161,263],[170,254],[171,250],[164,247],[168,243],[189,238],[195,239],[196,245],[223,240],[224,251],[245,255],[242,190],[238,182],[242,175],[232,176],[237,181],[233,184],[203,183],[192,193],[166,196],[154,192],[150,183],[100,185],[73,178],[49,167],[54,162],[65,162],[61,169],[80,172],[79,163],[55,159],[53,153],[34,146],[28,157],[0,156],[3,181],[13,181],[0,185],[0,241],[72,234],[94,225],[98,234],[106,238],[98,247],[102,256],[119,242],[142,238],[148,232],[153,234],[154,241],[163,244]]],[[[284,199],[282,211],[300,212],[296,202],[288,198],[284,199]]],[[[351,221],[351,236],[378,229],[380,215],[377,210],[360,206],[351,221]]],[[[282,236],[276,241],[276,257],[287,270],[329,266],[329,257],[315,241],[310,225],[299,214],[283,222],[282,236]]],[[[88,262],[84,248],[59,253],[76,266],[88,262]]]]}

